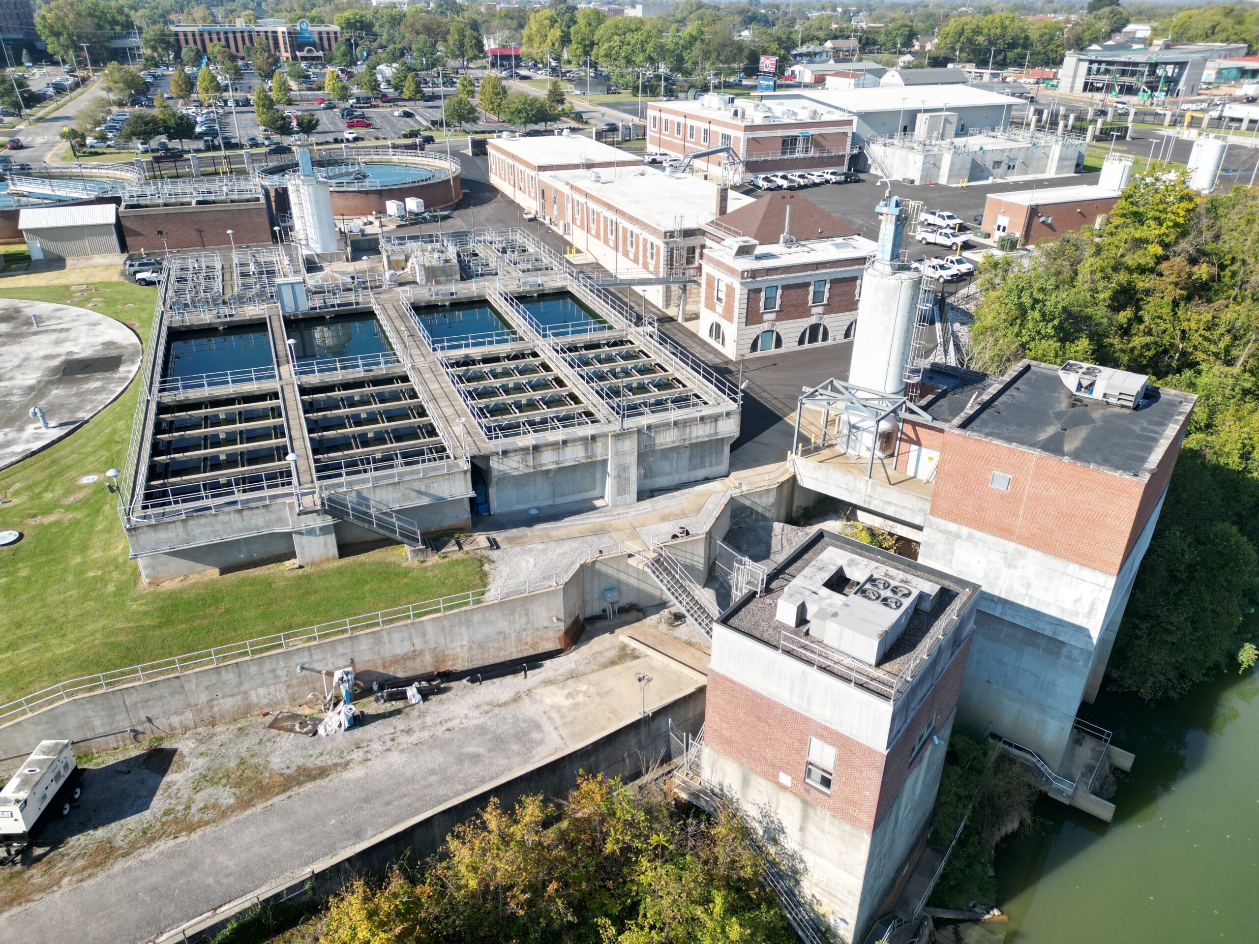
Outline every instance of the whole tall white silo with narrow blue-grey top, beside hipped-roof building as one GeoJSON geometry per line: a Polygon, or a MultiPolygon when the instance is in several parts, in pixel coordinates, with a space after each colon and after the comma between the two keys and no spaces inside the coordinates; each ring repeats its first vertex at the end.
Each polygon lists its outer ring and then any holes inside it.
{"type": "Polygon", "coordinates": [[[905,389],[905,365],[914,340],[923,277],[900,261],[908,215],[900,198],[888,198],[879,204],[878,213],[879,247],[861,281],[849,384],[899,395],[905,389]]]}

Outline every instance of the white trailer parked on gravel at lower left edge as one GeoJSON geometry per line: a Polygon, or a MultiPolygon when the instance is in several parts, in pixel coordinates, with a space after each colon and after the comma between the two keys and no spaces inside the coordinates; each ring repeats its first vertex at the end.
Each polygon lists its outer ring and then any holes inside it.
{"type": "Polygon", "coordinates": [[[8,865],[53,816],[69,816],[82,794],[71,741],[40,741],[0,790],[0,865],[8,865]]]}

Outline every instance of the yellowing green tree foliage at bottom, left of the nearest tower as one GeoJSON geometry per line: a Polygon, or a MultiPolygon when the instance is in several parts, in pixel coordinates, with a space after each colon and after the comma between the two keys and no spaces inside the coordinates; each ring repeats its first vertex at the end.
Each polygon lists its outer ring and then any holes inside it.
{"type": "Polygon", "coordinates": [[[684,817],[665,790],[580,777],[562,803],[497,799],[408,876],[351,884],[325,944],[606,941],[787,944],[794,934],[737,813],[684,817]]]}

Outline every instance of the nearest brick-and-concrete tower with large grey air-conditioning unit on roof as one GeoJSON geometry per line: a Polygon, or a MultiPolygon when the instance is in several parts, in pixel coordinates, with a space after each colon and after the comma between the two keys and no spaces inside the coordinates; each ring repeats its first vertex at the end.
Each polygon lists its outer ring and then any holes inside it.
{"type": "Polygon", "coordinates": [[[978,597],[817,531],[713,626],[703,780],[784,847],[840,940],[893,909],[922,850],[978,597]]]}

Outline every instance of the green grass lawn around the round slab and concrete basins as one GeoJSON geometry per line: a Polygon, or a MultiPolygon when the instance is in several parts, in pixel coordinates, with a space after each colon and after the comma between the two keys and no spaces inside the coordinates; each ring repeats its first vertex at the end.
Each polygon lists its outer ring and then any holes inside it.
{"type": "MultiPolygon", "coordinates": [[[[98,276],[97,276],[98,277],[98,276]]],[[[76,305],[74,271],[62,284],[0,278],[0,296],[76,305]]],[[[78,274],[89,281],[91,274],[78,274]]],[[[97,308],[147,337],[156,289],[92,282],[97,308]]],[[[123,464],[136,404],[132,385],[82,429],[0,472],[0,529],[25,537],[0,549],[0,701],[65,678],[296,629],[485,585],[480,559],[407,564],[384,548],[303,570],[271,565],[146,588],[104,480],[123,464]]]]}

